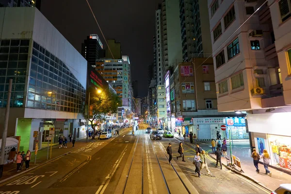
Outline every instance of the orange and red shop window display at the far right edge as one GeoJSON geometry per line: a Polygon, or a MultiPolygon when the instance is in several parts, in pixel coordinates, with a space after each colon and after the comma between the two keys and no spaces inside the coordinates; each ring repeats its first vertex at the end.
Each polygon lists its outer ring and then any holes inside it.
{"type": "Polygon", "coordinates": [[[291,137],[268,135],[272,164],[291,170],[291,137]]]}

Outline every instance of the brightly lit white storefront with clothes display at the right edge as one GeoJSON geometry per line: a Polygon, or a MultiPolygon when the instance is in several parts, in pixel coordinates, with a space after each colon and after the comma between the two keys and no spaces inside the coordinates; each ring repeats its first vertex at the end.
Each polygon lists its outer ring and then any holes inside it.
{"type": "MultiPolygon", "coordinates": [[[[261,155],[266,149],[270,165],[291,171],[291,113],[264,113],[247,116],[252,146],[261,155]],[[284,122],[281,122],[284,121],[284,122]]],[[[261,162],[262,159],[260,160],[261,162]]]]}

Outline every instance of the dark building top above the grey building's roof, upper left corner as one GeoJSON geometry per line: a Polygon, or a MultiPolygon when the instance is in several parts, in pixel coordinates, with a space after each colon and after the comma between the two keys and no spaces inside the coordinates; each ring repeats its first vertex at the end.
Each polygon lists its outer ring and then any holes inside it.
{"type": "Polygon", "coordinates": [[[0,7],[36,7],[40,10],[41,0],[0,0],[0,7]]]}

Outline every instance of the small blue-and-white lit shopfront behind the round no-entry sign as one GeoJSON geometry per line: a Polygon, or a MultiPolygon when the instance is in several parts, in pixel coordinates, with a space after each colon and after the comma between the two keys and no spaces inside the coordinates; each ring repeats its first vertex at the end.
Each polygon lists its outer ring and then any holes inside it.
{"type": "Polygon", "coordinates": [[[249,134],[245,128],[245,117],[226,117],[226,139],[229,138],[228,129],[231,133],[231,139],[249,139],[249,134]]]}

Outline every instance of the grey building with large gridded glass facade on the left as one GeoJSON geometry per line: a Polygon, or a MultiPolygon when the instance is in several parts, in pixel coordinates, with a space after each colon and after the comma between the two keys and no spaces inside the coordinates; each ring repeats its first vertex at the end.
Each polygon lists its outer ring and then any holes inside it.
{"type": "Polygon", "coordinates": [[[0,13],[1,126],[13,79],[7,136],[21,136],[20,150],[34,150],[35,130],[39,148],[49,128],[57,137],[84,138],[87,61],[36,8],[3,7],[0,13]],[[16,26],[28,33],[15,33],[16,26]]]}

